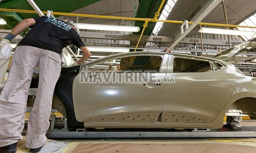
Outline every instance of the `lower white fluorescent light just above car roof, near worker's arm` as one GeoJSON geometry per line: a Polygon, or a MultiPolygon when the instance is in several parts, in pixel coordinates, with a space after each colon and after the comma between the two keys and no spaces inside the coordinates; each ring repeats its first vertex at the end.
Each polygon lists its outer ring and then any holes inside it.
{"type": "Polygon", "coordinates": [[[99,51],[99,52],[117,52],[117,53],[125,53],[129,52],[129,48],[122,48],[122,47],[91,47],[87,46],[89,51],[99,51]]]}

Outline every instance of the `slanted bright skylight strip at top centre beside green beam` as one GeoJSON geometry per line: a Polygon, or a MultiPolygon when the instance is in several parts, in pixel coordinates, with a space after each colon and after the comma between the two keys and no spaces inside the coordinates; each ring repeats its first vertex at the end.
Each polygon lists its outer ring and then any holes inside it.
{"type": "MultiPolygon", "coordinates": [[[[160,14],[159,20],[166,20],[166,18],[169,16],[176,2],[177,0],[168,0],[166,6],[163,9],[162,14],[160,14]]],[[[157,22],[156,26],[153,29],[153,34],[155,36],[158,34],[162,26],[163,26],[163,22],[157,22]]]]}

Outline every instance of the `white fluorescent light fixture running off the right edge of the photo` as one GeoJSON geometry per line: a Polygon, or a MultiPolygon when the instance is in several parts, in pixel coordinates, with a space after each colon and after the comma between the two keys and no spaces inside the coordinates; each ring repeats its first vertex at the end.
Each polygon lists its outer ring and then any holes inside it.
{"type": "Polygon", "coordinates": [[[219,28],[200,28],[198,32],[209,33],[209,34],[239,35],[239,36],[253,36],[254,34],[256,34],[256,32],[253,32],[253,31],[240,31],[240,30],[229,30],[229,29],[219,29],[219,28]]]}

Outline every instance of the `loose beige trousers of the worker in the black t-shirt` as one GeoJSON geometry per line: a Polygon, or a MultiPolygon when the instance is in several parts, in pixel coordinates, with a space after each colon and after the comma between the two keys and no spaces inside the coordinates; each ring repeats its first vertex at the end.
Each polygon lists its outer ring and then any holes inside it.
{"type": "Polygon", "coordinates": [[[6,85],[0,95],[0,147],[22,139],[26,102],[35,67],[40,65],[36,99],[29,116],[26,147],[44,145],[49,128],[52,96],[61,72],[61,54],[31,46],[18,46],[6,85]]]}

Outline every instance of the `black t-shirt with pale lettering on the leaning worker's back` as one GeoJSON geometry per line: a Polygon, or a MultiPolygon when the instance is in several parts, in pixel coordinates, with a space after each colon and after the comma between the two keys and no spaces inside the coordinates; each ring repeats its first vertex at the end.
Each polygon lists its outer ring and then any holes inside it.
{"type": "Polygon", "coordinates": [[[73,44],[85,46],[79,34],[66,22],[52,17],[35,17],[35,25],[17,44],[47,49],[61,54],[62,49],[73,44]]]}

